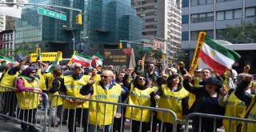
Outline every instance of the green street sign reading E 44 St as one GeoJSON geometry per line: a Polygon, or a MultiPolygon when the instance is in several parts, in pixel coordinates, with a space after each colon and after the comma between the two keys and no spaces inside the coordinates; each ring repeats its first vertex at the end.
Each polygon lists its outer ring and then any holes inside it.
{"type": "Polygon", "coordinates": [[[38,7],[38,14],[42,14],[42,15],[46,15],[48,17],[58,18],[58,19],[66,21],[66,14],[59,14],[57,12],[54,12],[51,10],[46,10],[46,9],[43,9],[40,7],[38,7]]]}

